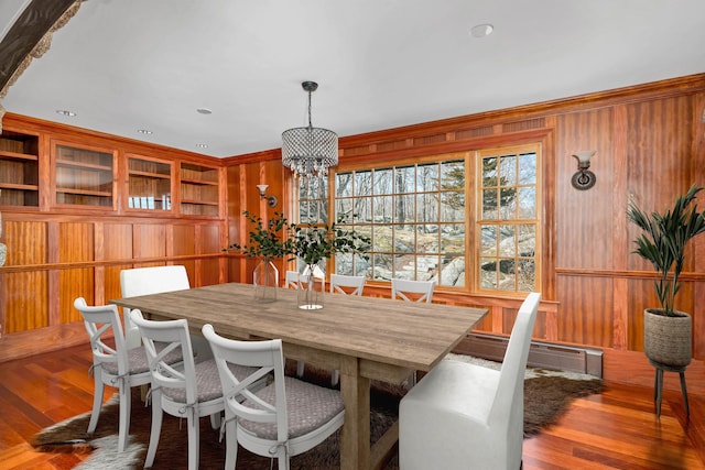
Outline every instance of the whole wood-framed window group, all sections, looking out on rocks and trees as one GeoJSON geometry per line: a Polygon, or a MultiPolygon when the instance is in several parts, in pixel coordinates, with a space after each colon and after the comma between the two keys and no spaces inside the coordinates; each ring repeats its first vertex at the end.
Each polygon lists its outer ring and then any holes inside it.
{"type": "Polygon", "coordinates": [[[533,143],[341,168],[332,188],[327,179],[302,178],[299,221],[329,223],[330,210],[341,227],[370,237],[367,259],[335,256],[330,267],[339,274],[434,280],[473,292],[535,291],[540,157],[541,145],[533,143]],[[477,176],[467,178],[474,167],[477,176]],[[466,265],[474,267],[466,272],[466,265]]]}

